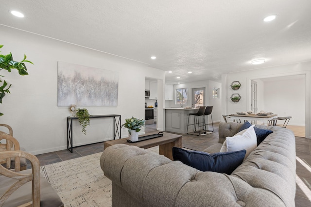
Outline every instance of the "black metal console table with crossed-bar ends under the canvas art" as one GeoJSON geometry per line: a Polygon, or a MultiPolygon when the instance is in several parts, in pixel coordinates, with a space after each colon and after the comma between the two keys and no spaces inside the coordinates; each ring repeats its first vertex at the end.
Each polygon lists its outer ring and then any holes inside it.
{"type": "MultiPolygon", "coordinates": [[[[92,115],[89,118],[107,118],[113,117],[113,139],[116,139],[118,134],[119,139],[121,139],[121,115],[119,114],[107,114],[107,115],[92,115]],[[119,117],[117,120],[116,117],[119,117]]],[[[72,153],[72,120],[78,119],[77,116],[67,116],[67,149],[72,153]],[[69,147],[70,143],[70,147],[69,147]]]]}

